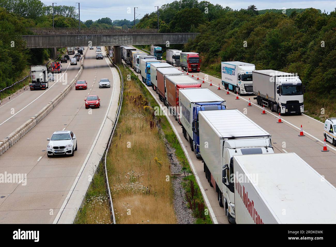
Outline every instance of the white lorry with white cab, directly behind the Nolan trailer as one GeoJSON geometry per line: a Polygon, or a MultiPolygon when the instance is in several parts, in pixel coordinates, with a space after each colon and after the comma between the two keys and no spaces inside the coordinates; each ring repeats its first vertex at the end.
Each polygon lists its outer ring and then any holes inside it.
{"type": "Polygon", "coordinates": [[[228,172],[225,167],[233,162],[234,155],[274,153],[271,135],[237,109],[200,111],[198,116],[205,176],[216,189],[228,221],[235,223],[235,191],[232,183],[223,180],[224,172],[228,172]]]}

